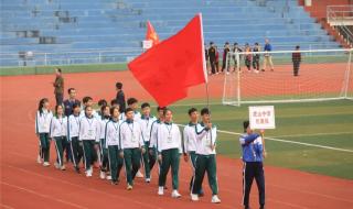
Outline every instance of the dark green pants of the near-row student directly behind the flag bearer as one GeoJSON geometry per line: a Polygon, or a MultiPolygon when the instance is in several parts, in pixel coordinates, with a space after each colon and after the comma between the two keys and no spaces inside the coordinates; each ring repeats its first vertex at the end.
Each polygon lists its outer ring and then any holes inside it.
{"type": "Polygon", "coordinates": [[[164,187],[167,182],[167,175],[169,168],[172,169],[172,186],[173,189],[179,188],[179,162],[180,162],[180,153],[179,148],[170,148],[162,151],[162,164],[161,170],[159,174],[159,186],[164,187]]]}

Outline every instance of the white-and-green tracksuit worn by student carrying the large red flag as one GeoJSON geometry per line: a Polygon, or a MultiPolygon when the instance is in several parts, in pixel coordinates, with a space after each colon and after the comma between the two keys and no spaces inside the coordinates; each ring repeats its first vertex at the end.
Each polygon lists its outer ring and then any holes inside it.
{"type": "Polygon", "coordinates": [[[199,194],[201,185],[207,172],[208,184],[212,189],[212,195],[218,194],[217,169],[216,169],[216,139],[217,128],[211,130],[205,128],[204,123],[200,123],[195,128],[196,131],[196,160],[195,160],[195,178],[192,188],[192,194],[199,194]]]}

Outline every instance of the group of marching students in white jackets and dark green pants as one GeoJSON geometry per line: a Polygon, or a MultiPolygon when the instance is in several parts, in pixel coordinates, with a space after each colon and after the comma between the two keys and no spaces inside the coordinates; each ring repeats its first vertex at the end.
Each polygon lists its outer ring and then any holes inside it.
{"type": "MultiPolygon", "coordinates": [[[[118,85],[117,85],[118,86],[118,85]]],[[[173,123],[173,112],[165,107],[158,107],[158,117],[151,116],[148,102],[137,111],[138,100],[129,98],[127,108],[121,111],[117,99],[108,105],[99,100],[99,110],[94,109],[90,97],[81,101],[75,99],[76,90],[68,89],[69,99],[57,103],[50,110],[50,101],[43,98],[39,102],[35,117],[35,132],[40,139],[38,163],[50,166],[51,141],[56,151],[55,168],[65,170],[72,163],[77,173],[81,164],[87,177],[99,168],[99,177],[117,185],[125,169],[127,189],[133,187],[133,179],[139,169],[145,172],[146,183],[151,182],[151,170],[159,168],[158,195],[164,195],[167,175],[172,173],[173,198],[179,198],[180,155],[191,161],[194,175],[190,183],[191,199],[197,201],[203,196],[201,188],[205,173],[212,189],[212,202],[220,204],[216,177],[216,127],[211,123],[210,110],[189,110],[191,122],[183,134],[173,123]],[[196,160],[197,158],[197,160],[196,160]],[[196,163],[197,161],[197,163],[196,163]],[[98,166],[97,166],[98,164],[98,166]]]]}

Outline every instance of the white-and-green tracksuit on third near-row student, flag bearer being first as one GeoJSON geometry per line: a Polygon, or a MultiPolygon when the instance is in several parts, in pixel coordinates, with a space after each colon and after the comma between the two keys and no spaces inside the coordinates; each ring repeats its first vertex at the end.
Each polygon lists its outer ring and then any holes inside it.
{"type": "Polygon", "coordinates": [[[140,168],[141,148],[145,147],[140,123],[126,120],[120,125],[119,136],[127,183],[132,186],[135,176],[140,168]]]}

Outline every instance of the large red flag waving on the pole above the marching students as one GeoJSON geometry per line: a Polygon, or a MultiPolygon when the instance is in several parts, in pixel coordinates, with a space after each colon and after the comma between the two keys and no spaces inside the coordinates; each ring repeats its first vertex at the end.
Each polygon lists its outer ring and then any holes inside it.
{"type": "Polygon", "coordinates": [[[188,96],[188,87],[207,81],[202,15],[194,16],[175,35],[128,64],[129,69],[159,106],[188,96]]]}

